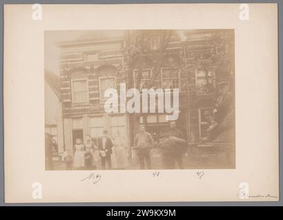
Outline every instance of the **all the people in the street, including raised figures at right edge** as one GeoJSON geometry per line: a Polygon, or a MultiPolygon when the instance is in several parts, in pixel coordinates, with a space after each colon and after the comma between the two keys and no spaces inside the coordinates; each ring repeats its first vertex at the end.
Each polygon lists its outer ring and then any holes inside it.
{"type": "MultiPolygon", "coordinates": [[[[204,112],[209,127],[206,130],[208,136],[202,138],[202,142],[228,143],[231,142],[234,135],[233,95],[229,91],[228,83],[220,83],[218,89],[219,95],[215,101],[215,109],[204,112]]],[[[57,146],[54,142],[49,144],[52,146],[50,148],[52,150],[46,151],[46,166],[52,169],[52,152],[57,151],[57,146]]],[[[64,152],[64,161],[68,170],[91,170],[97,168],[97,166],[102,169],[106,169],[106,167],[108,169],[126,169],[129,167],[129,148],[126,145],[124,137],[119,131],[112,139],[108,137],[108,132],[104,131],[103,137],[99,138],[97,142],[93,142],[88,135],[86,142],[78,138],[72,151],[64,152]]],[[[176,122],[170,121],[168,131],[164,133],[164,137],[158,143],[154,142],[152,135],[146,132],[145,125],[139,124],[139,131],[135,135],[132,149],[137,153],[141,169],[152,168],[150,152],[153,148],[159,148],[164,168],[175,168],[175,165],[177,165],[177,168],[184,168],[183,155],[188,149],[188,144],[184,140],[182,131],[177,129],[176,122]]]]}

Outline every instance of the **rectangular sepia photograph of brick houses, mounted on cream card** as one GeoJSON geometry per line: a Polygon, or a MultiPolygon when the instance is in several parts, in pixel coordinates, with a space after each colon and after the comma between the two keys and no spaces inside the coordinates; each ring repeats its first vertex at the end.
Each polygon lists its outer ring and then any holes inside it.
{"type": "Polygon", "coordinates": [[[235,168],[234,30],[45,31],[46,170],[235,168]]]}

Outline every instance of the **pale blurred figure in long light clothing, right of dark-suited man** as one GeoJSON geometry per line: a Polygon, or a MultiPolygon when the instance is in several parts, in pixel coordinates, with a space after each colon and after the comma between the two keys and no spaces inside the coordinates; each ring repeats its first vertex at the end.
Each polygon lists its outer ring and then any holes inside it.
{"type": "Polygon", "coordinates": [[[119,131],[117,131],[116,137],[113,138],[114,140],[114,151],[115,151],[115,159],[117,163],[118,169],[124,169],[128,167],[128,153],[125,144],[125,139],[121,135],[119,131]]]}

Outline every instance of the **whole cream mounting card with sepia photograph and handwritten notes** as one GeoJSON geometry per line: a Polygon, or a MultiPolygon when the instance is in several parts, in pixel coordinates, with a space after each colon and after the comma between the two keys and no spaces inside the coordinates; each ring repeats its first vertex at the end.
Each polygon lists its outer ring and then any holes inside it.
{"type": "Polygon", "coordinates": [[[5,203],[280,201],[277,3],[4,6],[5,203]]]}

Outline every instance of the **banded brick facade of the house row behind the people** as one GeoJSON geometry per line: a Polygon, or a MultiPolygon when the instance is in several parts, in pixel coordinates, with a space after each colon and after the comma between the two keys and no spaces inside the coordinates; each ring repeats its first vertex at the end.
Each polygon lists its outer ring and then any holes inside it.
{"type": "MultiPolygon", "coordinates": [[[[131,31],[133,32],[135,31],[131,31]]],[[[96,31],[75,41],[59,42],[61,103],[64,124],[64,149],[72,148],[76,138],[86,135],[95,142],[107,130],[110,137],[120,131],[127,146],[133,145],[137,124],[155,140],[168,129],[165,114],[129,114],[104,111],[104,91],[126,83],[127,89],[179,88],[177,127],[188,142],[206,135],[205,110],[215,105],[217,83],[229,82],[234,89],[233,30],[193,30],[170,33],[164,52],[160,52],[160,31],[148,31],[140,63],[126,61],[127,31],[96,31]],[[183,39],[184,38],[184,39],[183,39]],[[130,77],[133,77],[129,80],[130,77]],[[137,81],[138,84],[137,85],[137,81]],[[133,82],[132,85],[129,82],[133,82]]],[[[234,93],[233,93],[234,94],[234,93]]],[[[133,153],[130,151],[129,153],[133,153]]]]}

